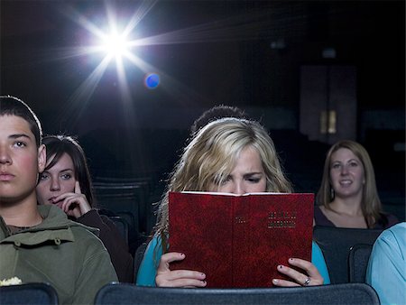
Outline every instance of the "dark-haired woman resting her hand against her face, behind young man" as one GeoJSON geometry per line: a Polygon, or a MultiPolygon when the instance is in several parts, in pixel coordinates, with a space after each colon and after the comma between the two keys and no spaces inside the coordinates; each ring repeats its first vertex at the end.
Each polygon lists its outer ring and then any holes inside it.
{"type": "Polygon", "coordinates": [[[37,185],[37,199],[42,205],[56,205],[69,218],[86,226],[97,227],[120,282],[133,282],[134,260],[128,245],[106,216],[93,207],[94,196],[88,162],[82,147],[70,136],[49,135],[42,139],[46,146],[45,170],[37,185]]]}

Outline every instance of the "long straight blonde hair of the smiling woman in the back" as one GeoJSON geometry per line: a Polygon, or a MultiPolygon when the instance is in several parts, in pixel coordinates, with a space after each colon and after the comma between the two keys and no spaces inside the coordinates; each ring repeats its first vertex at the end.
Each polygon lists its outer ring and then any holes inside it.
{"type": "Polygon", "coordinates": [[[321,180],[320,189],[317,194],[317,203],[319,206],[330,208],[330,203],[334,200],[334,189],[330,180],[331,156],[340,148],[349,149],[362,162],[364,166],[364,188],[361,201],[361,209],[363,211],[365,221],[368,227],[373,227],[378,219],[381,218],[382,204],[376,189],[376,181],[374,174],[374,166],[371,162],[368,152],[360,143],[350,140],[342,140],[335,143],[328,150],[326,161],[324,163],[323,177],[321,180]]]}

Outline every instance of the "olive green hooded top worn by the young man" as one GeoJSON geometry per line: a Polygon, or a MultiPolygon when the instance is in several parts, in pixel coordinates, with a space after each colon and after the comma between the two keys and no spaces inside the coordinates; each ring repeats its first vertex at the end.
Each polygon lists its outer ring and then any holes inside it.
{"type": "Polygon", "coordinates": [[[42,223],[14,235],[0,217],[0,280],[49,282],[60,304],[93,304],[102,286],[117,282],[98,230],[69,220],[58,207],[38,209],[42,223]]]}

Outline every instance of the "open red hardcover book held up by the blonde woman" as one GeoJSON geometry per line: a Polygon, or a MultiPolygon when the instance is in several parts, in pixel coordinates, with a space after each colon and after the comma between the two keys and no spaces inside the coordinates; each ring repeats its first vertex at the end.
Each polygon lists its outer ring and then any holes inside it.
{"type": "Polygon", "coordinates": [[[271,287],[278,264],[311,261],[313,194],[170,192],[172,270],[206,273],[207,287],[271,287]]]}

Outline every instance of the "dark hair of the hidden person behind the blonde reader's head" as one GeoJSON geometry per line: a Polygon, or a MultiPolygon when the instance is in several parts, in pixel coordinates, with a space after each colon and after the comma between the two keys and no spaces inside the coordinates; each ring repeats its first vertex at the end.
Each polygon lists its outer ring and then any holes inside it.
{"type": "Polygon", "coordinates": [[[193,136],[198,130],[208,125],[208,123],[218,120],[223,117],[236,117],[236,118],[248,118],[245,111],[237,106],[218,105],[206,110],[198,119],[190,126],[190,135],[193,136]]]}

